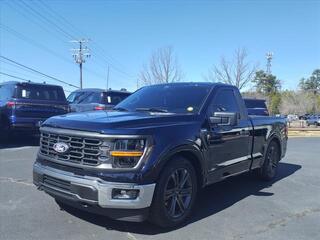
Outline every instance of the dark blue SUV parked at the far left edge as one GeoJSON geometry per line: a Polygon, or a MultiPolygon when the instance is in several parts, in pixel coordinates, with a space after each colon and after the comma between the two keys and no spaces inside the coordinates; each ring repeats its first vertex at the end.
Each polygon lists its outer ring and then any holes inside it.
{"type": "Polygon", "coordinates": [[[17,131],[33,133],[49,117],[69,111],[60,86],[33,82],[0,83],[1,137],[17,131]]]}

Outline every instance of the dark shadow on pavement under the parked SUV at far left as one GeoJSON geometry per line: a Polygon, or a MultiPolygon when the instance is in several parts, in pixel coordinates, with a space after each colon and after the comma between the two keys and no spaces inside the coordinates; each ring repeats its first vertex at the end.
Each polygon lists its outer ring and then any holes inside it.
{"type": "Polygon", "coordinates": [[[17,148],[26,146],[39,146],[39,136],[20,134],[11,136],[7,140],[0,140],[0,149],[17,148]]]}

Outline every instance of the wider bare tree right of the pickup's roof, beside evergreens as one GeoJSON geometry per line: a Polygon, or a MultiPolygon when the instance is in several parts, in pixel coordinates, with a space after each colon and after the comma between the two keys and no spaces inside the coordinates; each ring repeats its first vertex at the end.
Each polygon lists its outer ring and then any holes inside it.
{"type": "Polygon", "coordinates": [[[254,78],[257,64],[250,64],[247,60],[248,53],[245,48],[238,48],[234,52],[233,60],[228,61],[221,57],[219,65],[209,69],[205,78],[213,82],[224,82],[238,87],[247,86],[254,78]]]}

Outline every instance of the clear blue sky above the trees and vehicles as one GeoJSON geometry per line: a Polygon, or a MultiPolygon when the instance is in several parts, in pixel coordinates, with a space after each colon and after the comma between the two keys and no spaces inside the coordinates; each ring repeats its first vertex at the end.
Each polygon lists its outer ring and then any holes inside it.
{"type": "MultiPolygon", "coordinates": [[[[320,67],[320,1],[0,0],[0,7],[1,55],[71,84],[78,85],[79,69],[67,34],[90,38],[84,87],[105,88],[110,64],[109,86],[135,90],[143,64],[163,46],[174,47],[186,81],[203,81],[208,68],[239,47],[261,69],[266,52],[274,52],[272,73],[284,89],[320,67]]],[[[54,83],[4,62],[0,68],[54,83]]]]}

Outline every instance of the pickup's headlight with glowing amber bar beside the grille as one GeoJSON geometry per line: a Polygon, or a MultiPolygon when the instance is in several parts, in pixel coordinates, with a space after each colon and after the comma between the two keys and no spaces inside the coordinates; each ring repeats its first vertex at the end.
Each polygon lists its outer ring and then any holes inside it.
{"type": "Polygon", "coordinates": [[[115,139],[100,146],[100,161],[111,164],[112,168],[133,168],[137,165],[146,148],[145,139],[115,139]]]}

